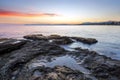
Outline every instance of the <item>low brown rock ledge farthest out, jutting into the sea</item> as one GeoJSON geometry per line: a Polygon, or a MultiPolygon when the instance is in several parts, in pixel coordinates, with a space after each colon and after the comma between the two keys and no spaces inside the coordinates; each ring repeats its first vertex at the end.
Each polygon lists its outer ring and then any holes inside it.
{"type": "Polygon", "coordinates": [[[33,39],[33,40],[53,40],[57,44],[70,44],[73,42],[72,39],[75,39],[85,44],[94,44],[98,42],[94,38],[67,37],[67,36],[60,36],[60,35],[43,36],[42,34],[26,35],[24,36],[24,38],[33,39]]]}

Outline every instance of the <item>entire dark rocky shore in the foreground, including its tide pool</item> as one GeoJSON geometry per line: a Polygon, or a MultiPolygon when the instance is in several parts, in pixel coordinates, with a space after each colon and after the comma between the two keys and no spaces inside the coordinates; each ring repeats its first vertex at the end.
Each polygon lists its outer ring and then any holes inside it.
{"type": "Polygon", "coordinates": [[[42,34],[0,39],[0,80],[120,80],[120,61],[95,51],[61,45],[93,38],[42,34]]]}

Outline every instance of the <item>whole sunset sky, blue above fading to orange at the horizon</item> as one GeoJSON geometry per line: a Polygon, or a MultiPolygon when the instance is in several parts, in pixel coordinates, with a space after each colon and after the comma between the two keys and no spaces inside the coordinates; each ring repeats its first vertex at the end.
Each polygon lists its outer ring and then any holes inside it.
{"type": "Polygon", "coordinates": [[[0,23],[120,21],[120,0],[0,0],[0,23]]]}

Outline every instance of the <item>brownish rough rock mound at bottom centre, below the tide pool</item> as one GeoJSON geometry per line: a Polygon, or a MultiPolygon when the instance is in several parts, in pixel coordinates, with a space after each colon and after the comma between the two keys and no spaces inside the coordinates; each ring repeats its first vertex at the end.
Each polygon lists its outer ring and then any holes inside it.
{"type": "MultiPolygon", "coordinates": [[[[24,75],[25,77],[26,75],[24,75]]],[[[24,77],[22,79],[24,79],[24,77]]],[[[20,80],[19,77],[18,80],[20,80]]],[[[80,71],[73,70],[66,66],[40,67],[33,71],[30,77],[26,80],[91,80],[83,75],[80,71]],[[35,72],[39,72],[40,75],[36,75],[35,72]]]]}

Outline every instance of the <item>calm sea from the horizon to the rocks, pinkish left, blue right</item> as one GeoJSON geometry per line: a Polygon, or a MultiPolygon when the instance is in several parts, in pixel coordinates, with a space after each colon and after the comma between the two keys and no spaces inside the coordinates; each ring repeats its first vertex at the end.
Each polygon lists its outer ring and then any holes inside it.
{"type": "Polygon", "coordinates": [[[120,26],[103,25],[4,25],[0,24],[0,38],[22,38],[28,34],[59,34],[63,36],[77,36],[96,38],[98,43],[86,45],[75,42],[65,45],[66,48],[82,47],[97,51],[113,59],[120,60],[120,26]]]}

